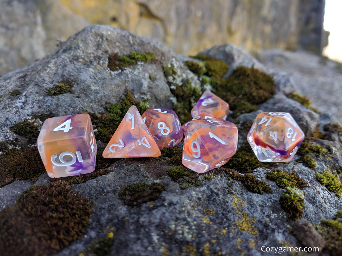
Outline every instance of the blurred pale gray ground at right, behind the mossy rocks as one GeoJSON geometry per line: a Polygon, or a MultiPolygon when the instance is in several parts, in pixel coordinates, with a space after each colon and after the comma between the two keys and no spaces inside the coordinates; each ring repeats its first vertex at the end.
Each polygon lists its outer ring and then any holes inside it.
{"type": "Polygon", "coordinates": [[[289,75],[297,91],[342,123],[342,72],[338,63],[309,52],[265,50],[257,58],[268,70],[289,75]]]}

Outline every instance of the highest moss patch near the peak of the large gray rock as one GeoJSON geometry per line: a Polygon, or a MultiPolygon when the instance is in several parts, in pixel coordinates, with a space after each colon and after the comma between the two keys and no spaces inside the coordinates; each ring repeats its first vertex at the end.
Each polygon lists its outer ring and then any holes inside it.
{"type": "Polygon", "coordinates": [[[119,69],[124,70],[129,66],[135,65],[137,62],[149,62],[156,58],[156,55],[153,53],[139,53],[139,52],[131,52],[128,55],[119,56],[117,53],[114,55],[108,56],[108,68],[111,71],[117,71],[119,69]]]}

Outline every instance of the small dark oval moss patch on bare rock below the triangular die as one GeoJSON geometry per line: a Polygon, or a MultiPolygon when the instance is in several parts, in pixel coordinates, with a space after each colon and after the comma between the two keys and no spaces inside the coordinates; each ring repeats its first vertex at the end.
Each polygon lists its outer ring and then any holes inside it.
{"type": "Polygon", "coordinates": [[[164,184],[153,182],[152,184],[133,183],[126,187],[122,186],[118,197],[124,204],[130,207],[140,206],[143,203],[155,201],[166,188],[164,184]]]}

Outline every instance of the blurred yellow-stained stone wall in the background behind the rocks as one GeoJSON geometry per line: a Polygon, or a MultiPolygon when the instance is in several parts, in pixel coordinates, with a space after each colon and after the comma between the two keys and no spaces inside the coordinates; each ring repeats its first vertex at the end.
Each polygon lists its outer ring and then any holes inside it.
{"type": "Polygon", "coordinates": [[[324,1],[0,1],[0,75],[49,53],[90,24],[163,42],[182,55],[231,43],[246,50],[299,46],[320,53],[324,1]]]}

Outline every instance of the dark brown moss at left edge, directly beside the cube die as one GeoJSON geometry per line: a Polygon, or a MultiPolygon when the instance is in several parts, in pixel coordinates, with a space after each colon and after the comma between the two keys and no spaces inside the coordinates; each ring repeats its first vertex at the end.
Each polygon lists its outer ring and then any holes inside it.
{"type": "Polygon", "coordinates": [[[1,147],[0,187],[15,180],[30,180],[35,183],[45,172],[37,147],[29,147],[25,150],[9,149],[4,142],[1,142],[1,147]]]}

